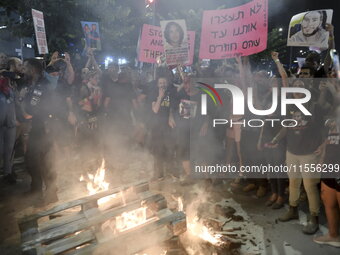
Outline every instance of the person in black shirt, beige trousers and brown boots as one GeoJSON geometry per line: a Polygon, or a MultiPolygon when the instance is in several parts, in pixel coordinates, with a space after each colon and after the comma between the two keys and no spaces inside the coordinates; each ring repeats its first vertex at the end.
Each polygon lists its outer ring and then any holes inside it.
{"type": "MultiPolygon", "coordinates": [[[[304,82],[300,79],[294,80],[292,86],[303,87],[304,82]]],[[[294,98],[301,96],[303,94],[293,93],[294,98]]],[[[290,127],[282,128],[279,134],[273,138],[271,144],[277,144],[282,138],[286,138],[286,164],[290,169],[288,173],[290,209],[279,220],[285,222],[299,218],[297,206],[303,182],[307,193],[310,217],[302,231],[305,234],[314,234],[319,228],[320,195],[318,184],[320,183],[320,173],[309,171],[309,167],[318,162],[318,156],[314,152],[321,144],[323,112],[321,107],[314,102],[311,102],[307,108],[312,116],[306,117],[295,106],[291,107],[289,110],[290,119],[294,119],[295,123],[292,122],[290,127]]]]}

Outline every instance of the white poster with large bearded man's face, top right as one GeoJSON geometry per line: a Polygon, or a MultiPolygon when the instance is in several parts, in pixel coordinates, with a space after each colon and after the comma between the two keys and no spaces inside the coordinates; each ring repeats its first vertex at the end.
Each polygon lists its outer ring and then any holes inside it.
{"type": "Polygon", "coordinates": [[[328,48],[329,32],[326,24],[332,23],[333,10],[315,10],[299,13],[289,23],[288,46],[328,48]]]}

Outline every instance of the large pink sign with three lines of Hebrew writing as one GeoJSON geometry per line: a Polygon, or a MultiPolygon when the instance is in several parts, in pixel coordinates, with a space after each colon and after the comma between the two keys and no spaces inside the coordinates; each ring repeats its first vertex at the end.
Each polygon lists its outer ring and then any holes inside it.
{"type": "Polygon", "coordinates": [[[265,50],[267,11],[267,0],[253,0],[230,9],[204,11],[200,58],[233,58],[265,50]]]}

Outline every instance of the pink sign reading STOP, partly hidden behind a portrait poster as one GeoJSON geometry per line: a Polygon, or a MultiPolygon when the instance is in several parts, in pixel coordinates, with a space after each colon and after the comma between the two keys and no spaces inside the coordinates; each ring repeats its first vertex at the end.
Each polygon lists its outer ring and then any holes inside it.
{"type": "MultiPolygon", "coordinates": [[[[188,31],[189,62],[194,59],[195,32],[188,31]]],[[[138,60],[145,63],[156,63],[157,57],[164,54],[163,36],[161,27],[144,24],[139,43],[138,60]]]]}

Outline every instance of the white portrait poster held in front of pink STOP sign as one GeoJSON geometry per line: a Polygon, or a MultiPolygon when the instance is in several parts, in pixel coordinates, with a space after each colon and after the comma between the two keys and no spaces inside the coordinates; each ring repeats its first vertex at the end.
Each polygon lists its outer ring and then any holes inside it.
{"type": "Polygon", "coordinates": [[[163,45],[168,65],[189,62],[189,44],[185,20],[161,21],[163,45]]]}

